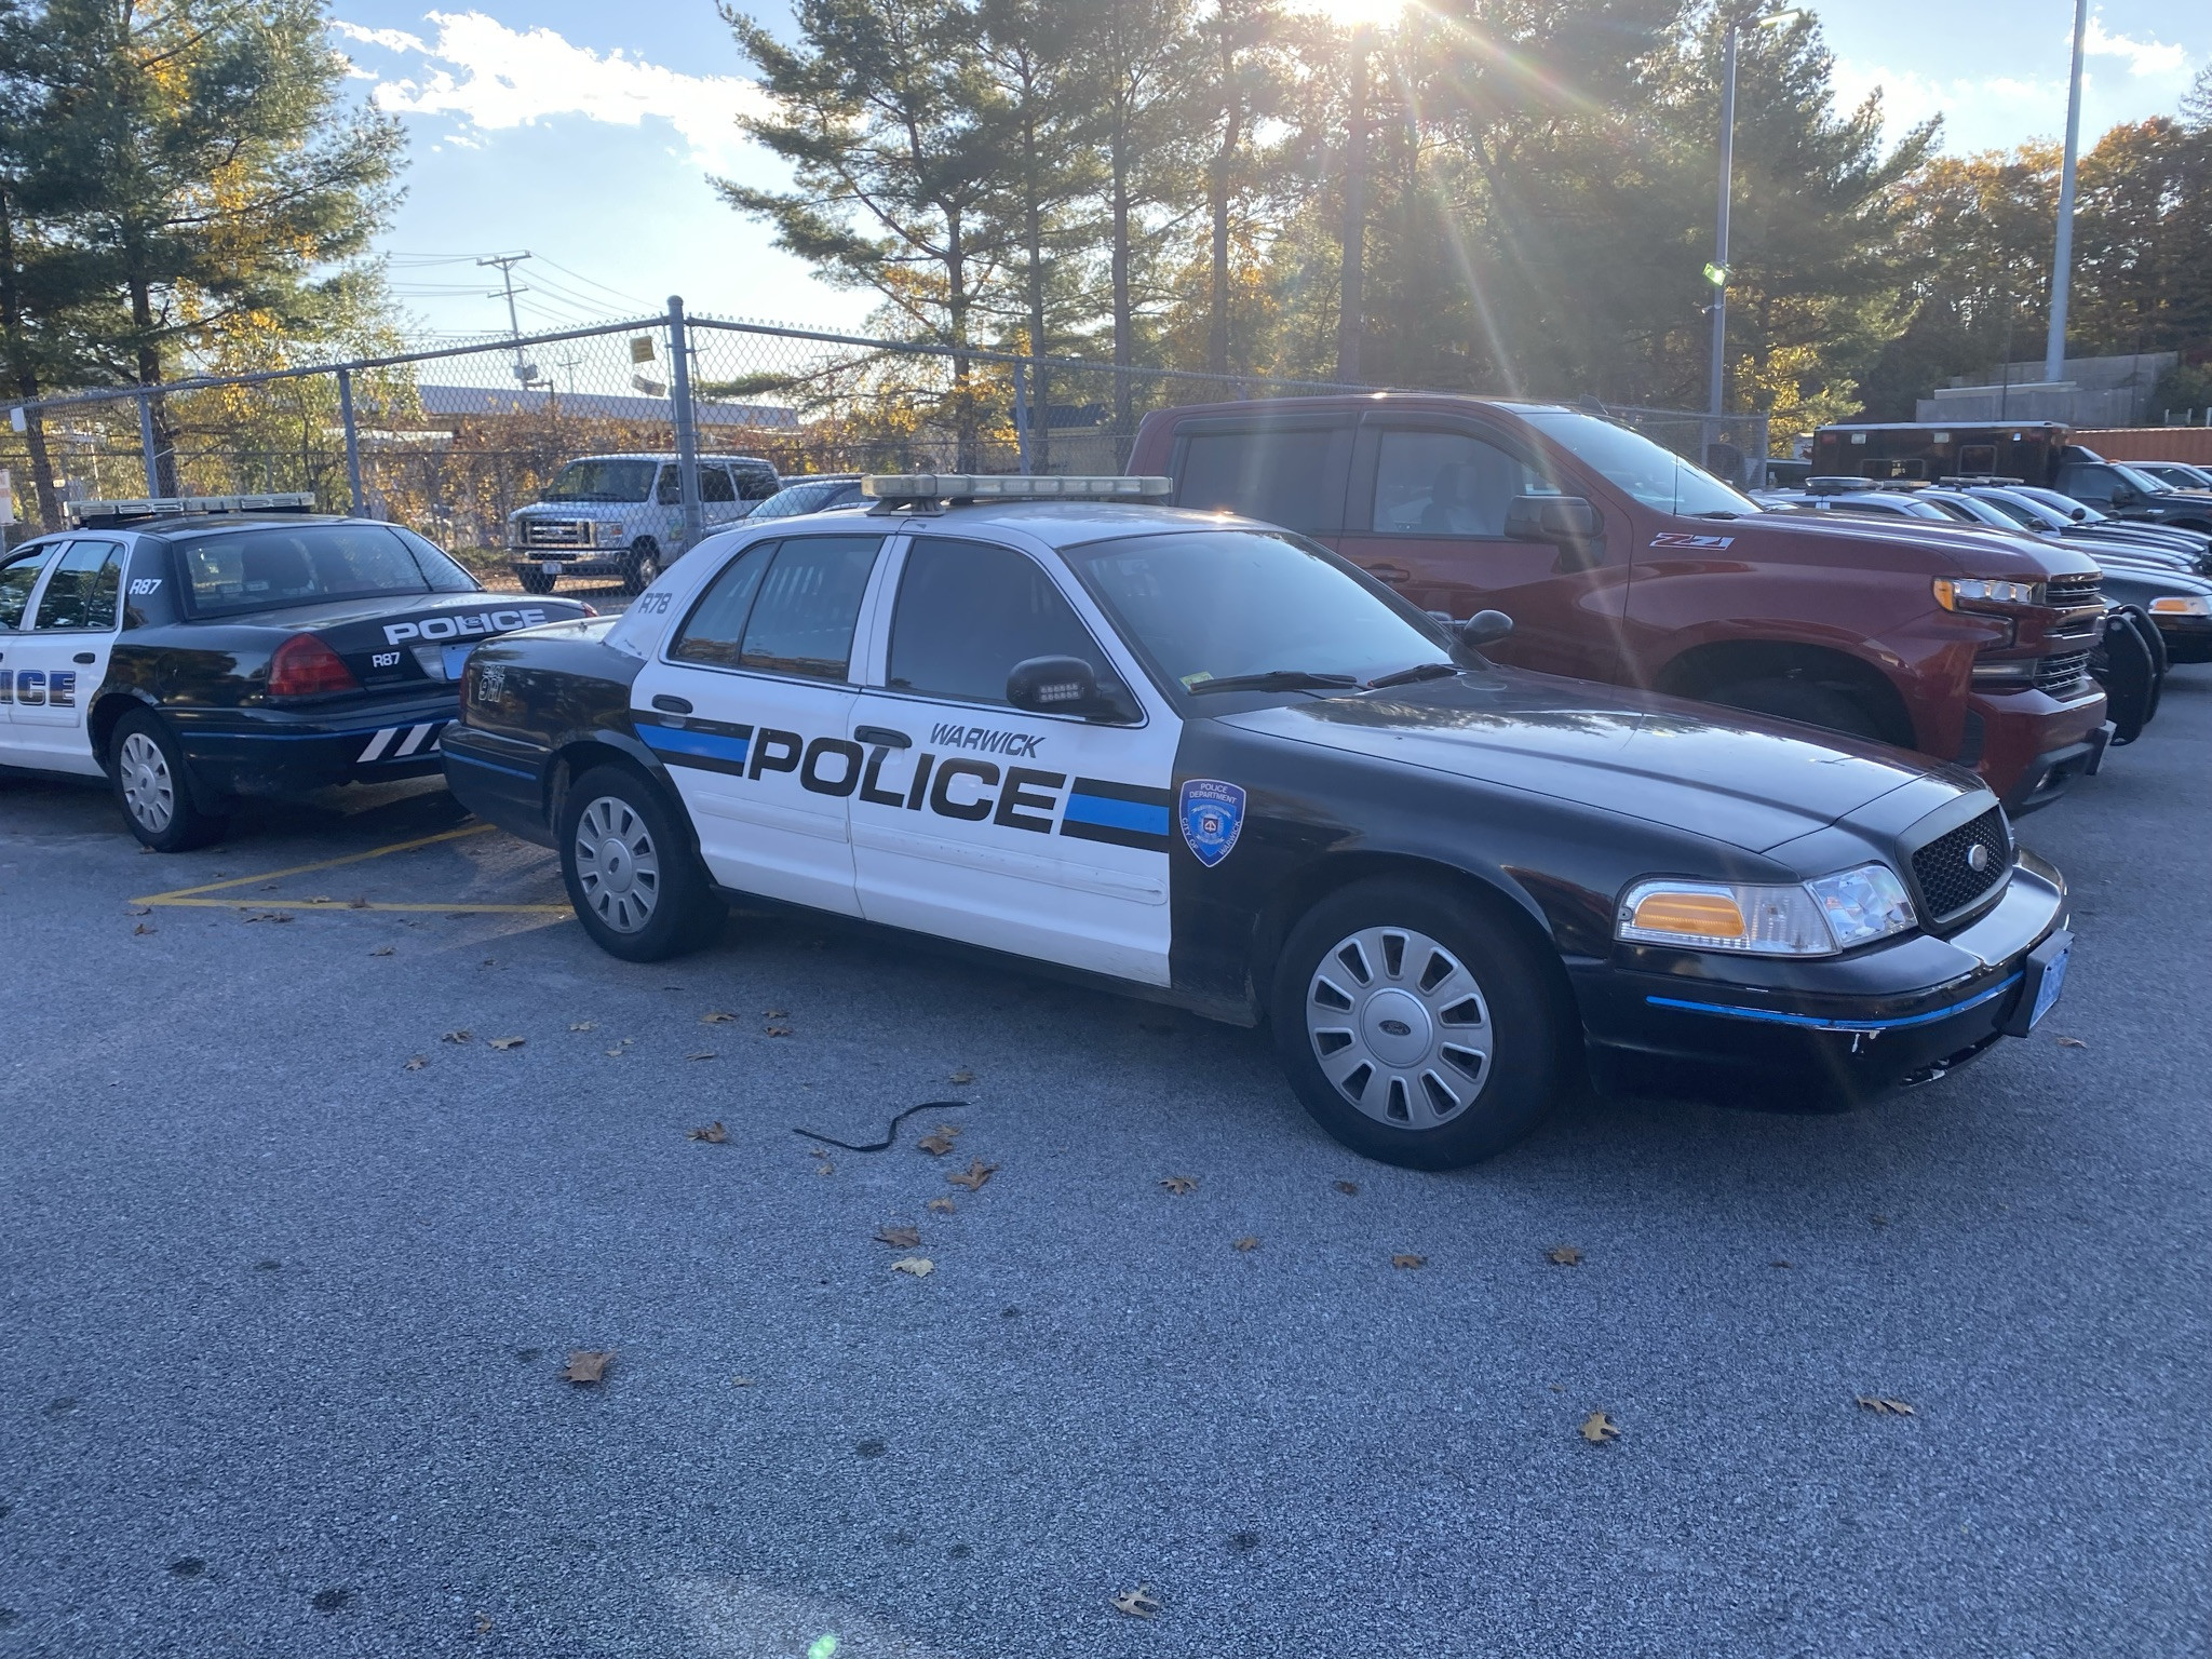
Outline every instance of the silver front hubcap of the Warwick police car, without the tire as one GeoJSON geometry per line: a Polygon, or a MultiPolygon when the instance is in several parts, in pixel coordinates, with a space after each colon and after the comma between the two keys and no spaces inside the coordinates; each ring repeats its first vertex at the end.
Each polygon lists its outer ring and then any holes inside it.
{"type": "Polygon", "coordinates": [[[1475,975],[1427,933],[1367,927],[1321,958],[1305,1031],[1323,1075],[1394,1128],[1436,1128],[1482,1093],[1491,1015],[1475,975]]]}

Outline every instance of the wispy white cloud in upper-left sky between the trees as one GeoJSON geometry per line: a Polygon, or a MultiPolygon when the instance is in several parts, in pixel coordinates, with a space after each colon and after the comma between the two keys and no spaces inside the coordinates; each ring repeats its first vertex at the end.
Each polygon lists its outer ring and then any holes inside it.
{"type": "Polygon", "coordinates": [[[745,139],[739,111],[761,108],[761,93],[741,75],[684,75],[622,51],[599,55],[553,29],[518,31],[482,11],[431,11],[438,38],[403,29],[332,27],[347,40],[420,60],[414,75],[376,77],[376,104],[403,115],[445,115],[458,124],[453,144],[480,144],[484,133],[533,126],[551,115],[641,126],[648,117],[675,126],[690,159],[730,170],[745,139]]]}

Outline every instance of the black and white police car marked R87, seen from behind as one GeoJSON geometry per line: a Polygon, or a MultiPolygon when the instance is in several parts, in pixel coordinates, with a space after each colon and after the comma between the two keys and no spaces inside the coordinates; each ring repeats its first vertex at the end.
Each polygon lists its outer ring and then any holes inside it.
{"type": "Polygon", "coordinates": [[[106,774],[131,832],[181,852],[243,794],[436,772],[467,653],[593,615],[312,507],[77,502],[77,529],[0,557],[0,768],[106,774]]]}

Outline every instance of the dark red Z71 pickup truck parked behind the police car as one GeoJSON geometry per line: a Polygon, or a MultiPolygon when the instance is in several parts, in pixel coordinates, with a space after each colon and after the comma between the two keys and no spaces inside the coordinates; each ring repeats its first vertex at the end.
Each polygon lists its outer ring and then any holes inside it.
{"type": "Polygon", "coordinates": [[[2095,560],[1942,524],[1763,513],[1599,414],[1369,394],[1159,409],[1130,469],[1323,542],[1484,650],[1980,770],[2020,814],[2097,770],[2095,560]]]}

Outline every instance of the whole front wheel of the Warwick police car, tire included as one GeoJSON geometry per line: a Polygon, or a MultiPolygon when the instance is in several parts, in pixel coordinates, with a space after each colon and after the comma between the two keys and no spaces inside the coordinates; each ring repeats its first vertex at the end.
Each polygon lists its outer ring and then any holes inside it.
{"type": "Polygon", "coordinates": [[[1528,940],[1464,894],[1402,878],[1345,887],[1298,920],[1270,1022],[1305,1110],[1354,1152],[1411,1170],[1522,1139],[1577,1035],[1528,940]]]}

